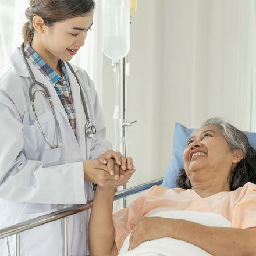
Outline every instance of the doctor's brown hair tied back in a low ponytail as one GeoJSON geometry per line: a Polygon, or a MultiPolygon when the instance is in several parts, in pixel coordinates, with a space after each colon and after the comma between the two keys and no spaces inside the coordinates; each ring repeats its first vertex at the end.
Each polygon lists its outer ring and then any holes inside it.
{"type": "Polygon", "coordinates": [[[73,17],[82,17],[94,10],[94,0],[30,0],[26,9],[27,21],[22,29],[24,45],[31,43],[34,37],[32,24],[35,15],[44,19],[45,25],[51,27],[55,22],[63,22],[73,17]]]}

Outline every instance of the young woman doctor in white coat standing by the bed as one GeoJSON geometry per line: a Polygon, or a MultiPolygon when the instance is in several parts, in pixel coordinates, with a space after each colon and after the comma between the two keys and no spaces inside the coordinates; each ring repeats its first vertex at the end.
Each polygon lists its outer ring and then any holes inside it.
{"type": "MultiPolygon", "coordinates": [[[[66,63],[84,45],[93,9],[93,0],[31,0],[26,9],[24,44],[0,73],[0,228],[86,204],[92,183],[121,186],[134,172],[132,159],[105,140],[93,82],[66,63]]],[[[68,255],[88,255],[89,214],[69,217],[68,255]]],[[[20,255],[62,255],[62,221],[20,240],[20,255]]],[[[14,248],[13,237],[0,240],[1,256],[14,248]]]]}

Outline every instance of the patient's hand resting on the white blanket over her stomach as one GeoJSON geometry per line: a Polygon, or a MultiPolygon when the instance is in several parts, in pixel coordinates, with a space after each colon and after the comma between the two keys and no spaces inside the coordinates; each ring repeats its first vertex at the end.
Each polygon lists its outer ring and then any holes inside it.
{"type": "MultiPolygon", "coordinates": [[[[129,250],[133,250],[144,241],[168,237],[166,219],[161,217],[142,218],[131,232],[129,250]]],[[[170,219],[168,218],[168,220],[170,219]]]]}

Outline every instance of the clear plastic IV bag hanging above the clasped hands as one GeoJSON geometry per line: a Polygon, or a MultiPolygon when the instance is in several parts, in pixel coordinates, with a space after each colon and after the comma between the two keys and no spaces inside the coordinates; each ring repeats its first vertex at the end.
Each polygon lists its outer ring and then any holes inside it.
{"type": "Polygon", "coordinates": [[[119,62],[130,49],[130,0],[102,1],[102,48],[104,54],[119,62]]]}

